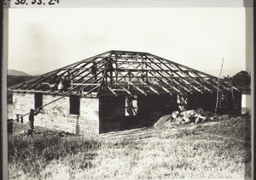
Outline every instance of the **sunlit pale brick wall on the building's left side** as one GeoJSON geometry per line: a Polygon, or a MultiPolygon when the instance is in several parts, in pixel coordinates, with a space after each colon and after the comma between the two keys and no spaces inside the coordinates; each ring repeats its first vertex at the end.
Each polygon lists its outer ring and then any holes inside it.
{"type": "MultiPolygon", "coordinates": [[[[43,104],[48,104],[61,96],[43,95],[43,104]]],[[[14,93],[14,118],[16,114],[24,115],[34,108],[33,93],[14,93]]],[[[52,130],[71,132],[79,135],[98,134],[98,99],[80,98],[80,114],[71,115],[69,113],[69,97],[61,98],[43,108],[35,116],[35,126],[47,127],[52,130]]],[[[24,117],[24,122],[28,121],[28,115],[24,117]]]]}

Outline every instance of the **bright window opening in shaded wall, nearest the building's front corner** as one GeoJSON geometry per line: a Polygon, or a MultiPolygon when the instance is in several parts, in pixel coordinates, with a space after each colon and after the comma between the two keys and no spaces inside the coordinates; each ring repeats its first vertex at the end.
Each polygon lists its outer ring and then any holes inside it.
{"type": "Polygon", "coordinates": [[[137,115],[137,95],[125,96],[125,116],[137,115]]]}

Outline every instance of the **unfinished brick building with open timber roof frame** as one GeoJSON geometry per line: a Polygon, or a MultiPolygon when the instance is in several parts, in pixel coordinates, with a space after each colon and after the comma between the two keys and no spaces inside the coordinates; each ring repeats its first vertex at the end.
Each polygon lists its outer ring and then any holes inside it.
{"type": "Polygon", "coordinates": [[[14,119],[41,109],[35,125],[76,134],[152,126],[174,110],[241,113],[229,82],[151,53],[108,51],[9,89],[14,119]],[[218,96],[218,97],[217,97],[218,96]]]}

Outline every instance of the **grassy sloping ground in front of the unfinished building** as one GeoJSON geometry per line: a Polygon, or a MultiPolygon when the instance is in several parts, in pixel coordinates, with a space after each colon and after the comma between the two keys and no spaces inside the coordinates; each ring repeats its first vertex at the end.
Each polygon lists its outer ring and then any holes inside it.
{"type": "Polygon", "coordinates": [[[9,135],[10,179],[244,178],[251,174],[249,116],[82,138],[36,127],[9,135]]]}

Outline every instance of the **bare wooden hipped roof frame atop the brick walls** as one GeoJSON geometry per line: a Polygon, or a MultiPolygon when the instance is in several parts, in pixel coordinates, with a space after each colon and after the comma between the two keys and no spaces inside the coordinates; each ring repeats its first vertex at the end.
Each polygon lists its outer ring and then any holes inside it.
{"type": "Polygon", "coordinates": [[[81,60],[58,70],[50,71],[9,91],[20,93],[50,93],[99,96],[160,93],[204,93],[231,91],[229,82],[160,58],[151,53],[131,51],[108,51],[81,60]],[[96,65],[96,75],[90,69],[96,65]],[[70,86],[60,92],[57,84],[66,78],[70,86]],[[49,84],[55,83],[50,88],[49,84]]]}

